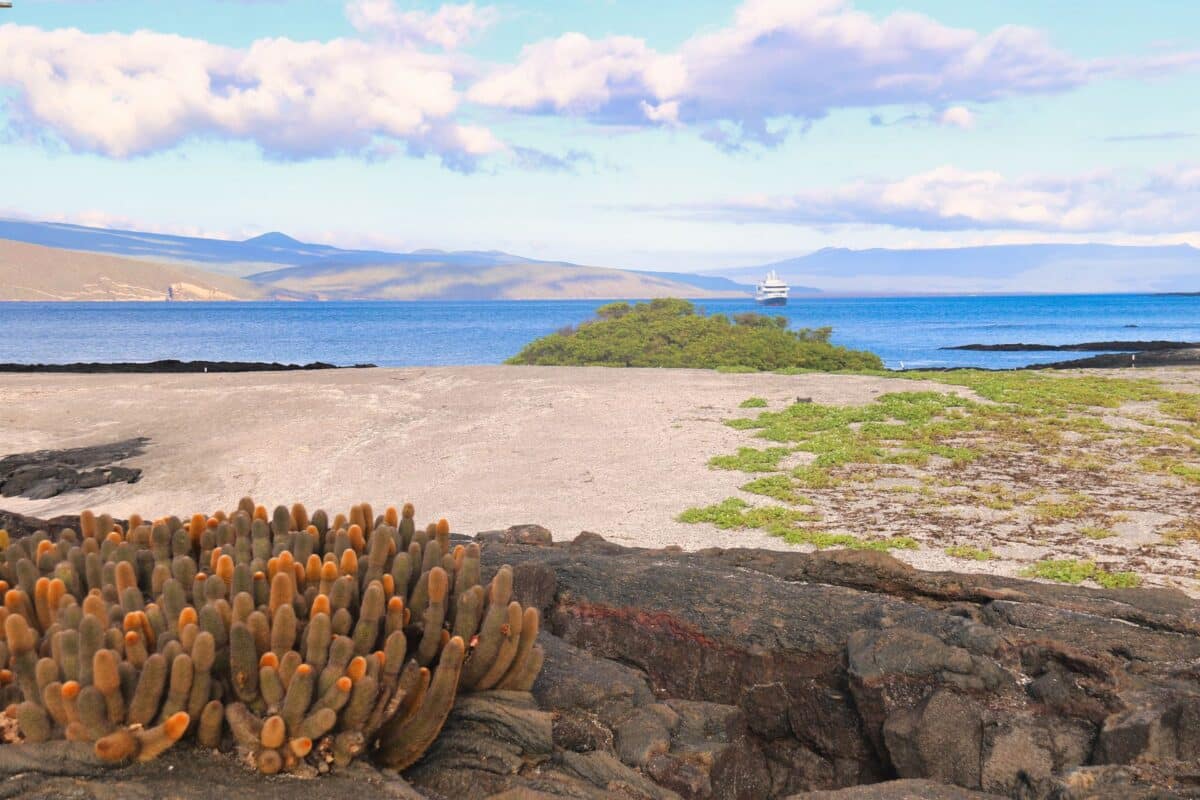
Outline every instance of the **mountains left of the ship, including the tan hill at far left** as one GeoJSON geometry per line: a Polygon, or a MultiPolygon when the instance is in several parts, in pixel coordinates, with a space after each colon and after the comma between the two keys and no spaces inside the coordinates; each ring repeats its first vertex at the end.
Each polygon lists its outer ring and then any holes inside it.
{"type": "Polygon", "coordinates": [[[751,290],[718,276],[581,266],[499,251],[390,253],[312,245],[281,233],[228,241],[0,219],[0,263],[19,267],[35,252],[42,269],[0,272],[0,300],[161,299],[168,287],[179,299],[246,300],[745,297],[751,290]],[[89,265],[86,255],[107,260],[89,265]],[[70,270],[58,266],[68,263],[70,270]],[[77,275],[85,279],[73,296],[77,275]]]}

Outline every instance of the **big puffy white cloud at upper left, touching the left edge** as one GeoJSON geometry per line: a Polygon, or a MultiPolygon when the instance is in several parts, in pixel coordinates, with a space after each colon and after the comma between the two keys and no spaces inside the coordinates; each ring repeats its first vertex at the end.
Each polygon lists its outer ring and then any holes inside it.
{"type": "Polygon", "coordinates": [[[470,160],[504,145],[460,125],[446,58],[360,40],[269,38],[233,49],[138,31],[0,25],[0,86],[18,127],[125,158],[192,136],[246,139],[277,158],[370,154],[401,144],[470,160]]]}

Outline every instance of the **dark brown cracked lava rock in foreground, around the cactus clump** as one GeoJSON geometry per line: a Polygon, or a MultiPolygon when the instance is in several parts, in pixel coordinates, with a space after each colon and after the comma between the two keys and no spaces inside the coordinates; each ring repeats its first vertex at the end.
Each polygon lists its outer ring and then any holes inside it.
{"type": "Polygon", "coordinates": [[[479,539],[487,571],[512,565],[517,599],[541,609],[546,664],[532,697],[461,702],[403,780],[284,784],[196,751],[100,770],[13,746],[0,798],[1200,795],[1200,608],[1177,591],[919,572],[872,552],[553,543],[535,525],[479,539]]]}

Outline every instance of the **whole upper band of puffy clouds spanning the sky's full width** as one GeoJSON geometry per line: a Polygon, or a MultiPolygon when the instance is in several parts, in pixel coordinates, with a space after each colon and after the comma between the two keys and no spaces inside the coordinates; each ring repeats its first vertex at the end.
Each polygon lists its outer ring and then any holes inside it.
{"type": "Polygon", "coordinates": [[[499,108],[689,127],[733,152],[775,146],[834,109],[872,109],[877,124],[894,110],[902,116],[888,124],[971,128],[972,109],[1008,96],[1200,66],[1194,53],[1080,60],[1027,28],[979,32],[910,12],[877,17],[850,0],[744,0],[731,24],[671,52],[571,32],[484,70],[460,48],[497,22],[494,6],[348,0],[346,13],[360,35],[245,48],[0,25],[4,120],[11,132],[116,158],[210,137],[253,142],[275,158],[407,152],[470,170],[503,152],[510,164],[544,168],[553,160],[460,120],[499,108]]]}

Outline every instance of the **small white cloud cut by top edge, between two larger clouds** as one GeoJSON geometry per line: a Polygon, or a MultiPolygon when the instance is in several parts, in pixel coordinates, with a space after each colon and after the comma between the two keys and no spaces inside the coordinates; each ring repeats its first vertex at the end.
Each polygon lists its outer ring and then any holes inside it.
{"type": "Polygon", "coordinates": [[[492,6],[474,2],[446,4],[431,13],[401,11],[395,0],[352,0],[346,5],[346,16],[356,30],[368,36],[448,50],[462,47],[499,18],[492,6]]]}

